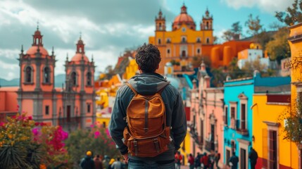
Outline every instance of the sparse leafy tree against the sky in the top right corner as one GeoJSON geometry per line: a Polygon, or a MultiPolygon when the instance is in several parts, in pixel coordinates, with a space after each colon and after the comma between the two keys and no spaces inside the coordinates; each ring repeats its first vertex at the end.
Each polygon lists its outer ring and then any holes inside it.
{"type": "Polygon", "coordinates": [[[302,22],[302,1],[295,0],[294,4],[287,8],[287,11],[276,12],[276,18],[287,25],[294,25],[302,22]]]}

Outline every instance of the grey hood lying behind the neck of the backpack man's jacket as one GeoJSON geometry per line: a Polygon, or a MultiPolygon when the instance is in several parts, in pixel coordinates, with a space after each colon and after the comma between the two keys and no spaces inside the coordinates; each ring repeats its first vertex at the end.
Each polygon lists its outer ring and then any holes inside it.
{"type": "Polygon", "coordinates": [[[139,94],[151,95],[170,84],[168,80],[157,73],[141,73],[128,81],[139,94]]]}

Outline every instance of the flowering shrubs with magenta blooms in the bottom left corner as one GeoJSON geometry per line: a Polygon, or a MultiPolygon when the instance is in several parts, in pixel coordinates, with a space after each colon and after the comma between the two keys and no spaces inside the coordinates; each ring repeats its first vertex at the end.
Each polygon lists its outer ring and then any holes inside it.
{"type": "MultiPolygon", "coordinates": [[[[61,127],[35,123],[25,113],[0,123],[0,169],[54,167],[68,163],[61,127]]],[[[68,166],[68,165],[66,165],[68,166]]]]}

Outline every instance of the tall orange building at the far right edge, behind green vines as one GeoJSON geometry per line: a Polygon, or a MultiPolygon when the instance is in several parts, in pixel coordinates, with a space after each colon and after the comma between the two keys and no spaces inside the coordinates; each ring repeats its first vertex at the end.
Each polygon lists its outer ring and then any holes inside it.
{"type": "MultiPolygon", "coordinates": [[[[302,23],[289,27],[289,30],[289,46],[291,48],[291,110],[295,110],[296,101],[300,100],[302,96],[302,23]]],[[[296,151],[302,154],[301,149],[296,149],[296,151]]],[[[299,161],[298,167],[302,168],[301,156],[295,160],[299,161]]]]}

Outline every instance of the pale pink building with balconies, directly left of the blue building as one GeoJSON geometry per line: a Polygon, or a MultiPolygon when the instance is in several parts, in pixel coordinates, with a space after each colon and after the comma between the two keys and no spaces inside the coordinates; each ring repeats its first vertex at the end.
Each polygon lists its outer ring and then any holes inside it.
{"type": "Polygon", "coordinates": [[[218,151],[222,163],[223,87],[210,87],[210,77],[204,63],[201,63],[198,79],[198,89],[194,87],[191,91],[191,152],[196,156],[197,152],[214,154],[218,151]]]}

